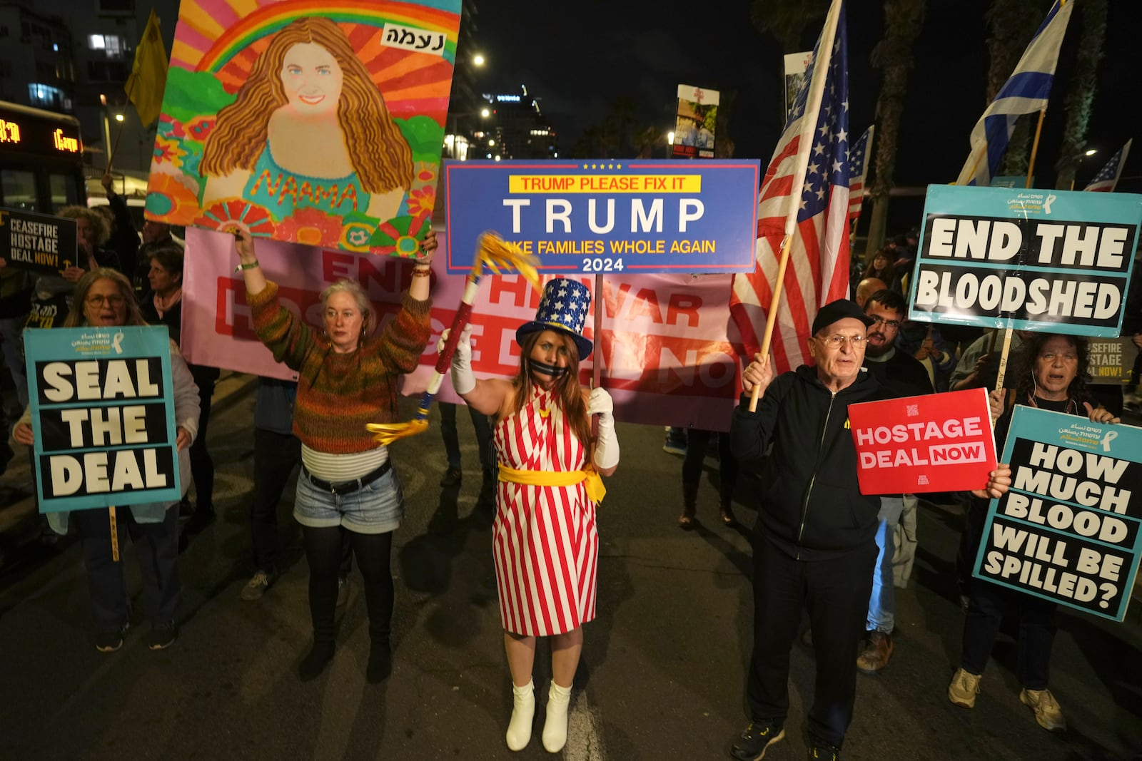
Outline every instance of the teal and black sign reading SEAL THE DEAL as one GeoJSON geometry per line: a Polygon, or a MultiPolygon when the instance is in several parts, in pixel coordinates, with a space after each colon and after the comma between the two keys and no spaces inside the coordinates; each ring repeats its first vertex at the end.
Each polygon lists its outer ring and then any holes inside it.
{"type": "Polygon", "coordinates": [[[24,348],[40,512],[178,500],[164,326],[29,330],[24,348]]]}

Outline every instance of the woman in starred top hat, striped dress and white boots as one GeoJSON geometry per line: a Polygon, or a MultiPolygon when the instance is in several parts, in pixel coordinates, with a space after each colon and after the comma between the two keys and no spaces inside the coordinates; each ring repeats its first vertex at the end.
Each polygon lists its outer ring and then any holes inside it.
{"type": "Polygon", "coordinates": [[[553,638],[544,747],[555,753],[566,743],[582,624],[595,617],[595,507],[604,491],[600,475],[610,476],[619,464],[619,442],[611,396],[579,384],[579,362],[593,348],[582,335],[589,308],[590,292],[581,283],[548,282],[536,319],[516,331],[520,371],[510,381],[473,375],[471,327],[452,357],[457,394],[498,418],[492,551],[514,693],[507,729],[513,751],[531,739],[536,637],[553,638]],[[598,415],[594,450],[590,415],[598,415]]]}

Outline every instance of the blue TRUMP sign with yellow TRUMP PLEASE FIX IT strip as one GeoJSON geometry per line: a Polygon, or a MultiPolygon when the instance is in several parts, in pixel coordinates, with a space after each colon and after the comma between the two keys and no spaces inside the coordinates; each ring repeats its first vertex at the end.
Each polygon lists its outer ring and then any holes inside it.
{"type": "Polygon", "coordinates": [[[447,161],[448,272],[492,229],[547,274],[754,270],[757,160],[447,161]]]}

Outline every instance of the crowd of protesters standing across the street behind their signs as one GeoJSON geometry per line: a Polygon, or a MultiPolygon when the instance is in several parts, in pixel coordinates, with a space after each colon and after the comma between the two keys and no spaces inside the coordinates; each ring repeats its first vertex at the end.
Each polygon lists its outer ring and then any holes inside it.
{"type": "MultiPolygon", "coordinates": [[[[187,476],[184,489],[193,483],[196,501],[192,509],[185,497],[134,505],[121,511],[118,526],[139,558],[151,622],[147,646],[162,649],[178,637],[180,540],[185,548],[215,516],[215,465],[206,440],[218,371],[187,364],[179,351],[182,245],[156,222],[148,221],[142,235],[136,234],[122,200],[106,185],[106,216],[83,208],[61,211],[78,224],[83,256],[75,267],[59,277],[38,278],[0,268],[0,306],[10,315],[0,317],[0,329],[23,407],[14,437],[25,445],[34,443],[27,384],[23,358],[9,346],[18,341],[22,325],[169,329],[178,462],[187,476]],[[29,306],[23,322],[14,306],[21,299],[29,306]],[[188,517],[182,537],[180,513],[188,517]]],[[[235,241],[235,264],[258,338],[298,374],[297,383],[258,382],[250,504],[254,574],[241,597],[257,601],[282,570],[276,508],[297,471],[293,517],[303,529],[313,630],[298,665],[301,680],[321,675],[335,657],[335,608],[345,601],[352,558],[364,580],[371,643],[367,680],[381,682],[392,670],[391,553],[405,505],[392,453],[367,432],[365,423],[397,420],[396,382],[418,365],[431,339],[429,264],[435,248],[435,234],[429,233],[400,310],[384,329],[377,330],[378,316],[361,286],[339,281],[321,294],[319,331],[279,301],[278,286],[260,269],[254,240],[240,234],[235,241]]],[[[682,528],[693,528],[700,519],[699,489],[708,455],[719,460],[718,523],[726,527],[737,526],[732,505],[739,467],[762,468],[763,491],[749,497],[758,511],[751,532],[749,721],[732,742],[733,758],[762,759],[783,738],[789,651],[798,637],[810,643],[817,662],[813,696],[806,701],[813,759],[839,756],[855,711],[858,671],[879,672],[894,651],[894,589],[908,582],[918,499],[860,492],[847,405],[995,386],[990,334],[907,319],[904,294],[915,259],[915,230],[875,251],[867,266],[852,272],[853,300],[834,301],[813,316],[811,365],[778,375],[769,357],[753,358],[741,373],[743,396],[727,431],[690,430],[684,443],[668,440],[668,451],[684,452],[677,519],[682,528]],[[758,403],[751,411],[754,392],[758,403]],[[804,631],[803,613],[810,622],[804,631]]],[[[521,359],[510,379],[473,374],[469,331],[459,337],[451,359],[452,386],[469,408],[480,443],[480,507],[494,513],[490,550],[513,683],[513,711],[506,721],[506,743],[513,751],[525,747],[532,734],[532,671],[540,637],[552,640],[541,742],[553,753],[563,748],[584,625],[596,616],[595,511],[605,492],[601,477],[619,464],[619,443],[610,396],[578,380],[579,363],[594,351],[584,335],[589,305],[590,293],[581,284],[548,282],[536,318],[516,332],[521,359]]],[[[1142,330],[1136,302],[1127,313],[1125,330],[1142,330]]],[[[1134,334],[1134,340],[1140,337],[1134,334]]],[[[1086,339],[1022,333],[1014,356],[1010,388],[990,395],[998,419],[997,452],[1016,405],[1118,422],[1121,398],[1115,408],[1086,382],[1086,339]]],[[[457,487],[464,476],[456,412],[451,405],[442,410],[445,488],[457,487]]],[[[959,495],[966,505],[964,558],[974,557],[988,500],[1007,492],[1011,469],[999,464],[979,477],[980,488],[959,495]]],[[[82,540],[95,646],[116,650],[128,634],[128,605],[122,567],[111,557],[108,526],[114,524],[108,524],[106,510],[77,510],[54,516],[53,528],[67,531],[69,517],[82,540]]],[[[1045,729],[1065,728],[1048,679],[1055,606],[972,578],[968,570],[960,582],[966,612],[963,655],[958,664],[949,664],[949,672],[952,665],[956,670],[948,699],[966,709],[974,705],[999,624],[1018,610],[1020,699],[1045,729]]]]}

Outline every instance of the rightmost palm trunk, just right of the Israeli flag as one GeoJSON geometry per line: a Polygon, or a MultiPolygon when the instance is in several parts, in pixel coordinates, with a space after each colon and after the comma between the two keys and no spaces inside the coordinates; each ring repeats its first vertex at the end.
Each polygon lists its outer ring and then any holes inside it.
{"type": "Polygon", "coordinates": [[[1071,74],[1070,91],[1067,94],[1067,126],[1063,144],[1055,163],[1055,187],[1070,188],[1075,185],[1075,172],[1086,149],[1086,128],[1094,107],[1097,89],[1099,62],[1107,39],[1107,0],[1083,0],[1083,39],[1079,41],[1075,72],[1071,74]]]}

